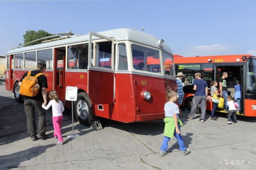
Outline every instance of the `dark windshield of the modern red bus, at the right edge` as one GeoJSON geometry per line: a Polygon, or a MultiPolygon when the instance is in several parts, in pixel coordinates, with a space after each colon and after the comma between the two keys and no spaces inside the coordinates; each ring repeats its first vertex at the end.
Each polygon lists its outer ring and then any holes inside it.
{"type": "Polygon", "coordinates": [[[247,94],[256,94],[256,58],[247,59],[247,94]]]}

